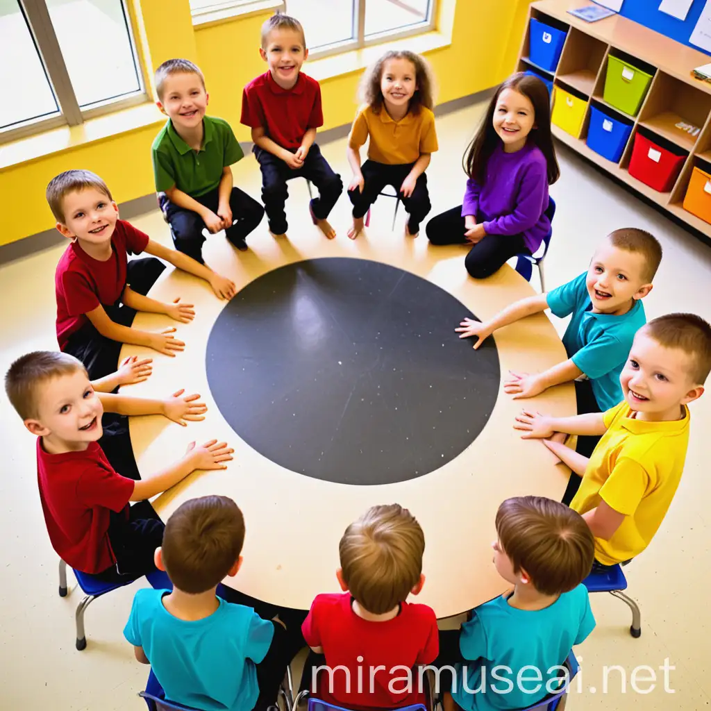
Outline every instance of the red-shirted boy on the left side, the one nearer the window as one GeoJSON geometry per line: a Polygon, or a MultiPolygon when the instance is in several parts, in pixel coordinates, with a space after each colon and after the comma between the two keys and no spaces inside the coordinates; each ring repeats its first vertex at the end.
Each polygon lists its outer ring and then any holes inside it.
{"type": "Polygon", "coordinates": [[[205,279],[221,299],[235,294],[235,284],[181,252],[166,249],[145,232],[119,220],[109,188],[90,171],[60,173],[47,186],[47,202],[57,229],[72,240],[55,272],[57,340],[60,350],[84,363],[92,380],[117,368],[124,343],[175,355],[185,343],[172,334],[131,328],[137,311],[166,314],[183,324],[195,316],[192,304],[149,299],[146,294],[163,271],[156,259],[128,260],[147,252],[184,272],[205,279]]]}

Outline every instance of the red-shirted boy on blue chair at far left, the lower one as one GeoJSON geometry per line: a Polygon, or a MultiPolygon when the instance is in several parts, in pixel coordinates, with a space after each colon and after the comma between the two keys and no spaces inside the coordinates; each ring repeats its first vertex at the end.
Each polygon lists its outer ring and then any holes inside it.
{"type": "Polygon", "coordinates": [[[95,392],[84,366],[68,353],[18,358],[5,391],[25,427],[37,435],[37,483],[52,547],[68,565],[109,582],[156,570],[164,525],[147,499],[196,469],[225,469],[232,449],[216,440],[188,447],[176,464],[145,481],[117,474],[97,444],[104,407],[122,415],[203,419],[193,396],[146,400],[95,392]],[[141,518],[129,501],[141,501],[141,518]]]}

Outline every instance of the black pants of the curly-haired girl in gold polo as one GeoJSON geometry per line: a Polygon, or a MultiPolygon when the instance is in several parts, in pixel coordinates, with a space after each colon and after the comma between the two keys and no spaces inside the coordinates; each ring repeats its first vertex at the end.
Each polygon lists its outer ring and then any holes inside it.
{"type": "Polygon", "coordinates": [[[362,218],[370,209],[370,205],[373,205],[383,192],[383,188],[389,185],[395,188],[397,197],[410,215],[410,219],[407,220],[410,234],[417,234],[419,223],[427,217],[429,210],[432,210],[432,203],[429,202],[427,176],[424,173],[417,178],[415,190],[409,198],[400,192],[402,182],[410,175],[414,165],[414,163],[407,163],[390,166],[375,161],[365,161],[360,168],[360,172],[363,173],[363,192],[361,193],[358,188],[348,191],[348,197],[353,203],[353,217],[362,218]]]}

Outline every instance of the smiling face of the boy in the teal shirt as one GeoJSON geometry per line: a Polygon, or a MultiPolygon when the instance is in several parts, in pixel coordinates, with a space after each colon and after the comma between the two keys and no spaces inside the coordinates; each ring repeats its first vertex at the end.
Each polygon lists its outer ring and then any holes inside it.
{"type": "Polygon", "coordinates": [[[593,255],[585,279],[592,310],[596,314],[626,314],[636,299],[652,289],[645,282],[645,270],[640,252],[621,250],[606,240],[593,255]]]}

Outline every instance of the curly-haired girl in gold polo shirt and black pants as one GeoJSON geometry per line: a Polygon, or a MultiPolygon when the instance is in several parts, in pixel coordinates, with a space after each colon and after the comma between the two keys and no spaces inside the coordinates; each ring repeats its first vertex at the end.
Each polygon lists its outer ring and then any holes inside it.
{"type": "Polygon", "coordinates": [[[434,131],[432,73],[419,55],[387,52],[363,76],[365,106],[358,110],[348,137],[348,163],[353,178],[348,196],[353,203],[355,240],[385,186],[392,186],[409,215],[406,233],[417,237],[419,223],[432,205],[427,193],[430,154],[437,150],[434,131]],[[360,165],[360,146],[370,136],[368,160],[360,165]]]}

